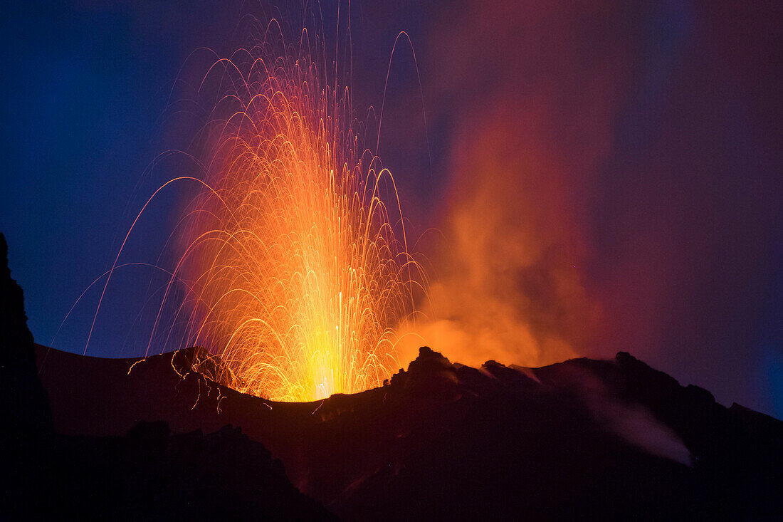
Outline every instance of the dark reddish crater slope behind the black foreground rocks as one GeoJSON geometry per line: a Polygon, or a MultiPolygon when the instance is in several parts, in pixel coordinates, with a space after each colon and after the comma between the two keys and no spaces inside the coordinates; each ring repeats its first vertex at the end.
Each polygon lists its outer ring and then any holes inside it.
{"type": "MultiPolygon", "coordinates": [[[[544,368],[452,364],[423,348],[388,386],[287,404],[221,386],[197,350],[136,361],[38,347],[54,422],[124,433],[230,422],[346,519],[772,519],[783,423],[627,353],[544,368]]],[[[216,362],[215,364],[219,364],[216,362]]]]}

